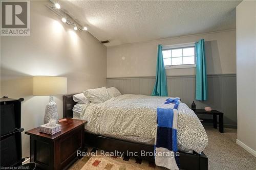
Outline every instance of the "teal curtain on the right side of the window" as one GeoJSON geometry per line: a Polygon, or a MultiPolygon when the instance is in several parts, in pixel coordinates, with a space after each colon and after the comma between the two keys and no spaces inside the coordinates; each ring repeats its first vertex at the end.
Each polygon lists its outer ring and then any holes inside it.
{"type": "Polygon", "coordinates": [[[207,74],[206,60],[204,50],[204,39],[195,43],[197,57],[197,74],[196,74],[196,100],[207,100],[207,74]]]}

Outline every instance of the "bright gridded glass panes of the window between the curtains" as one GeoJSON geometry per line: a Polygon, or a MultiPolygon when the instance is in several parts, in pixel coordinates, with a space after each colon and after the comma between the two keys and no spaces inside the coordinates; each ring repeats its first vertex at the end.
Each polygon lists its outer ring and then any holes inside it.
{"type": "MultiPolygon", "coordinates": [[[[178,66],[178,65],[195,65],[195,45],[190,44],[186,46],[165,46],[163,47],[163,61],[164,66],[178,66]]],[[[183,67],[184,68],[184,67],[183,67]]]]}

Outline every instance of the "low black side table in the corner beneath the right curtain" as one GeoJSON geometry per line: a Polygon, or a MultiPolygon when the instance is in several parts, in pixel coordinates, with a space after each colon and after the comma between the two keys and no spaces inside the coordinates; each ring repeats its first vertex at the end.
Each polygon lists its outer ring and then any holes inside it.
{"type": "Polygon", "coordinates": [[[219,115],[219,131],[221,133],[224,132],[224,128],[223,128],[223,113],[219,112],[217,110],[211,110],[210,112],[205,111],[204,109],[196,109],[194,110],[194,112],[196,114],[212,114],[213,115],[213,119],[214,119],[214,128],[217,129],[217,115],[219,115]]]}

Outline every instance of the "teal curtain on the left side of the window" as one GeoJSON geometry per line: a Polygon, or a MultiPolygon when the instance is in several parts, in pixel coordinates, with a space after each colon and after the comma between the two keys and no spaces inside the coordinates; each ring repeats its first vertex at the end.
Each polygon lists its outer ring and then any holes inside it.
{"type": "Polygon", "coordinates": [[[158,45],[156,83],[151,95],[168,96],[162,45],[158,45]]]}

